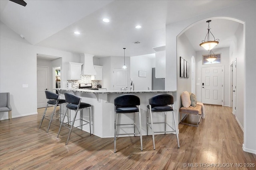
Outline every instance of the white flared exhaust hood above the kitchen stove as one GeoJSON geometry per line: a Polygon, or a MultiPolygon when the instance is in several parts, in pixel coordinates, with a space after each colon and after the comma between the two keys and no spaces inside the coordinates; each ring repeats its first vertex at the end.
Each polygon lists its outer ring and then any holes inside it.
{"type": "Polygon", "coordinates": [[[91,54],[81,54],[80,61],[82,65],[82,75],[96,75],[96,71],[93,65],[93,57],[91,54]]]}

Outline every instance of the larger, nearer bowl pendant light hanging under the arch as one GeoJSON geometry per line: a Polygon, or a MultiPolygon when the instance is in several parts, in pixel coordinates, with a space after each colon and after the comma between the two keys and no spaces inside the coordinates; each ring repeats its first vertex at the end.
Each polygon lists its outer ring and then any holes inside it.
{"type": "Polygon", "coordinates": [[[206,50],[211,50],[211,49],[213,49],[213,47],[215,47],[216,45],[218,45],[218,43],[219,43],[219,39],[215,39],[215,37],[214,37],[214,35],[212,34],[212,32],[210,31],[210,21],[212,21],[212,20],[208,20],[208,21],[206,21],[207,23],[208,23],[208,28],[207,28],[207,33],[206,33],[206,36],[205,36],[205,38],[204,38],[204,40],[202,40],[202,43],[200,44],[200,46],[201,47],[204,47],[204,49],[206,49],[206,50]],[[214,41],[211,41],[210,40],[210,33],[211,33],[211,35],[212,35],[212,37],[213,37],[213,39],[214,39],[214,41]]]}

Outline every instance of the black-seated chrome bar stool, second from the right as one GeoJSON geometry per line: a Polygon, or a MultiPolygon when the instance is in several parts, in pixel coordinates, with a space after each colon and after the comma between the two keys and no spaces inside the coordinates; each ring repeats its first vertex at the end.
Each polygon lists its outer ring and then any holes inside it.
{"type": "Polygon", "coordinates": [[[116,136],[118,135],[138,135],[140,134],[140,148],[142,151],[142,134],[141,134],[141,114],[140,114],[140,98],[134,94],[124,94],[118,96],[114,99],[115,105],[115,134],[114,134],[114,152],[116,153],[116,136]],[[117,115],[118,114],[128,114],[134,113],[134,122],[132,124],[117,124],[117,115]],[[136,113],[139,113],[139,123],[140,123],[140,130],[136,125],[136,113]],[[119,134],[117,133],[117,126],[122,125],[133,125],[134,126],[134,133],[125,133],[119,134]],[[139,131],[136,133],[136,128],[139,131]]]}

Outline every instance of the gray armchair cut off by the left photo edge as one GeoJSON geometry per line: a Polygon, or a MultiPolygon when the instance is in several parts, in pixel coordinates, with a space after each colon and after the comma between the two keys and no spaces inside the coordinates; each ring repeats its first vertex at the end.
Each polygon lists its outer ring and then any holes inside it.
{"type": "Polygon", "coordinates": [[[10,105],[10,93],[0,93],[0,112],[9,113],[9,120],[12,123],[12,107],[10,105]]]}

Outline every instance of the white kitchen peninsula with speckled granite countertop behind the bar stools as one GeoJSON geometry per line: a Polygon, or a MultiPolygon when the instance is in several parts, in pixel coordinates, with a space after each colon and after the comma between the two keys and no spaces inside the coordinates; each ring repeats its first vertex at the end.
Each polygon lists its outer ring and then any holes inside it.
{"type": "MultiPolygon", "coordinates": [[[[60,98],[64,99],[64,93],[72,93],[80,98],[82,98],[81,102],[88,103],[92,105],[92,134],[96,135],[101,138],[106,137],[114,137],[114,99],[122,94],[135,94],[140,98],[140,109],[141,109],[141,117],[142,117],[142,135],[147,134],[147,105],[148,99],[157,95],[157,94],[171,94],[175,93],[176,91],[169,91],[169,90],[86,90],[86,89],[64,89],[64,88],[55,88],[54,90],[58,90],[60,94],[60,98]]],[[[175,98],[174,98],[174,105],[175,105],[175,98]]],[[[62,111],[65,111],[66,108],[62,108],[62,111]]],[[[176,119],[178,118],[177,109],[174,107],[176,119]]],[[[71,114],[71,119],[73,118],[74,114],[71,114]]],[[[88,118],[88,111],[84,110],[84,118],[88,118]]],[[[77,115],[79,118],[80,114],[77,115]]],[[[170,125],[174,127],[172,114],[168,114],[167,120],[170,125]],[[171,120],[171,121],[170,121],[171,120]]],[[[118,117],[119,119],[120,117],[118,117]]],[[[156,121],[161,121],[164,119],[163,114],[156,115],[154,117],[156,121]]],[[[122,120],[119,119],[118,121],[124,121],[128,123],[129,121],[133,121],[133,114],[122,115],[122,120]]],[[[77,121],[75,126],[79,126],[79,122],[77,121]],[[76,124],[77,123],[77,124],[76,124]]],[[[136,117],[136,123],[138,123],[138,117],[136,117]]],[[[163,125],[157,125],[154,127],[156,131],[163,129],[163,125]]],[[[88,125],[84,125],[84,131],[90,132],[88,125]]],[[[122,131],[132,132],[133,126],[127,126],[120,129],[120,133],[122,131]]],[[[150,131],[149,131],[149,134],[150,131]]]]}

